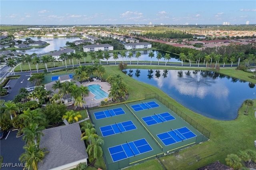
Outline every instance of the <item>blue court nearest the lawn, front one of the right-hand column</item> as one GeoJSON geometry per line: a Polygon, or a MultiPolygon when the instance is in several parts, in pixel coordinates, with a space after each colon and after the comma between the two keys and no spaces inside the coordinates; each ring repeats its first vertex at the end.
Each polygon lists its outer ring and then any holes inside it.
{"type": "Polygon", "coordinates": [[[193,138],[196,135],[191,132],[187,127],[174,129],[168,132],[157,134],[158,138],[162,140],[165,146],[180,142],[189,138],[193,138]]]}

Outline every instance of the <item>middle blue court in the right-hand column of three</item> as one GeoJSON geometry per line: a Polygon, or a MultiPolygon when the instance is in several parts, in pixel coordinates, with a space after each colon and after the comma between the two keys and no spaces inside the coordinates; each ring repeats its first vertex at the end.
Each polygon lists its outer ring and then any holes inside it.
{"type": "Polygon", "coordinates": [[[163,123],[166,121],[174,120],[175,118],[168,112],[160,113],[160,114],[154,114],[152,116],[148,117],[142,117],[142,120],[148,125],[154,125],[157,123],[163,123]]]}

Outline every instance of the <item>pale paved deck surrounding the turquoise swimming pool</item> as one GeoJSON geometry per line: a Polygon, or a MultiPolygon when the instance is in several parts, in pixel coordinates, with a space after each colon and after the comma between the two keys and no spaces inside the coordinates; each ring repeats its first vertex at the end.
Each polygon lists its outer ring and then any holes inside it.
{"type": "MultiPolygon", "coordinates": [[[[102,87],[102,90],[109,93],[109,89],[110,89],[110,85],[108,85],[108,83],[106,82],[97,82],[97,81],[91,81],[89,83],[85,83],[85,84],[82,84],[83,86],[88,86],[88,85],[94,85],[94,84],[98,84],[102,87]]],[[[101,101],[104,101],[105,98],[103,99],[99,99],[99,100],[96,100],[93,98],[94,97],[94,94],[92,94],[92,92],[89,92],[89,96],[85,98],[85,101],[86,101],[86,105],[94,105],[96,106],[96,104],[100,103],[101,101]]]]}

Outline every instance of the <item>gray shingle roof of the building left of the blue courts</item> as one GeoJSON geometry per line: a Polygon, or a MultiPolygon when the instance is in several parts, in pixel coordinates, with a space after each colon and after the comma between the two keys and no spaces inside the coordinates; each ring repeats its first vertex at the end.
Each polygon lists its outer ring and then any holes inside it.
{"type": "Polygon", "coordinates": [[[43,164],[38,162],[38,170],[49,170],[88,158],[84,141],[81,139],[79,123],[49,128],[42,131],[40,148],[50,151],[45,154],[43,164]]]}

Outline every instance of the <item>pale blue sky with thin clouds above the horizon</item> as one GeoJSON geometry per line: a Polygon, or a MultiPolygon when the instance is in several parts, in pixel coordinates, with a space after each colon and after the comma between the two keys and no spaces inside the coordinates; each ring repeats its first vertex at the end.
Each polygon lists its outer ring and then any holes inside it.
{"type": "Polygon", "coordinates": [[[0,24],[256,24],[256,0],[0,0],[0,24]]]}

